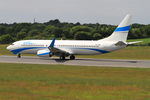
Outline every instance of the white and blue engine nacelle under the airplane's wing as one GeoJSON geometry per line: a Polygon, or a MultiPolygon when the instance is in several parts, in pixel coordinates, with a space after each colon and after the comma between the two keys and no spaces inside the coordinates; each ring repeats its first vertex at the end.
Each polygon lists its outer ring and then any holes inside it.
{"type": "Polygon", "coordinates": [[[50,52],[49,49],[39,50],[37,51],[37,56],[40,57],[51,57],[53,54],[50,52]]]}

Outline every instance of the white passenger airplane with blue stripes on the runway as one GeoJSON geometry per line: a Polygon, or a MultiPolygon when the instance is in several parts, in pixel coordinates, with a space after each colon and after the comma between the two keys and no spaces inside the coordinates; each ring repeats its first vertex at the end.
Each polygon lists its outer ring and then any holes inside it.
{"type": "Polygon", "coordinates": [[[58,56],[61,60],[70,57],[74,60],[76,55],[99,55],[110,53],[129,44],[139,43],[127,42],[130,30],[131,15],[128,14],[107,38],[101,40],[21,40],[12,43],[7,49],[18,58],[21,54],[36,54],[40,57],[58,56]]]}

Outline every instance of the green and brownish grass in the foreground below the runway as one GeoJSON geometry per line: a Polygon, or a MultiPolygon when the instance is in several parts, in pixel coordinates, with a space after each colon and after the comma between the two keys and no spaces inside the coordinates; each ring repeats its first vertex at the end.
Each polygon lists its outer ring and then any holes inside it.
{"type": "Polygon", "coordinates": [[[0,100],[150,100],[150,69],[0,63],[0,100]]]}

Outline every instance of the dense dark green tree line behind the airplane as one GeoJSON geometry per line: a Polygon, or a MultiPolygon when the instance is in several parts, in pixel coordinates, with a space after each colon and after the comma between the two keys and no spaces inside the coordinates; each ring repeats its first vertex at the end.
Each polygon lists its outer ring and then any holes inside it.
{"type": "MultiPolygon", "coordinates": [[[[60,22],[0,24],[0,44],[28,39],[98,40],[109,36],[116,28],[106,24],[80,24],[60,22]]],[[[133,24],[129,39],[150,37],[150,25],[133,24]]]]}

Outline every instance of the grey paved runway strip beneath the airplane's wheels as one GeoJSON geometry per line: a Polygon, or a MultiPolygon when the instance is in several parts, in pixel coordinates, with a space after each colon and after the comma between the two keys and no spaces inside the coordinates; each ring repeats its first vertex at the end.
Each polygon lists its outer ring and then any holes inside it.
{"type": "Polygon", "coordinates": [[[134,67],[150,68],[150,60],[120,60],[120,59],[92,59],[77,58],[76,60],[59,60],[58,58],[40,58],[34,56],[0,56],[1,63],[24,63],[24,64],[63,64],[80,66],[107,66],[107,67],[134,67]]]}

